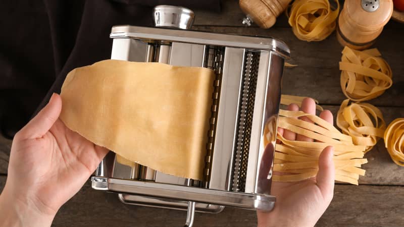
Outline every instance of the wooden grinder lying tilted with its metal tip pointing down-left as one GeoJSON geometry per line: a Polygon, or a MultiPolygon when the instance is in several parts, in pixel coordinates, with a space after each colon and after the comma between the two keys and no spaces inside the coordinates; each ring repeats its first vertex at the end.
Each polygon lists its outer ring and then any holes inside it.
{"type": "Polygon", "coordinates": [[[243,24],[250,26],[254,22],[261,28],[270,28],[290,2],[291,0],[239,0],[240,8],[246,14],[243,24]]]}

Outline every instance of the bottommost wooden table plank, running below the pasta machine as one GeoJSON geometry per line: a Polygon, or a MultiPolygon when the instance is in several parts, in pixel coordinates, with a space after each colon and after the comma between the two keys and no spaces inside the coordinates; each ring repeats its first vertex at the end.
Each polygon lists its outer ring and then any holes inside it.
{"type": "MultiPolygon", "coordinates": [[[[6,177],[0,176],[0,191],[6,177]]],[[[334,199],[317,226],[401,226],[404,188],[336,185],[334,199]]],[[[53,226],[182,226],[185,211],[124,205],[116,194],[90,183],[58,212],[53,226]]],[[[255,211],[227,207],[220,214],[197,213],[194,226],[257,226],[255,211]]]]}

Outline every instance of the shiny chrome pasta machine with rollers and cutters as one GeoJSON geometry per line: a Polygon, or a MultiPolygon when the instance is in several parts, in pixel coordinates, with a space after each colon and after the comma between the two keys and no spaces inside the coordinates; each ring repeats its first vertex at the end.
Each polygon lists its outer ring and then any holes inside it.
{"type": "MultiPolygon", "coordinates": [[[[187,30],[193,12],[158,6],[156,27],[114,26],[111,59],[206,67],[216,74],[203,181],[179,178],[110,152],[92,188],[126,204],[219,213],[225,206],[270,211],[281,77],[289,48],[269,37],[187,30]]],[[[197,105],[197,103],[195,103],[197,105]]],[[[179,120],[180,121],[180,120],[179,120]]],[[[136,152],[135,150],[133,152],[136,152]]]]}

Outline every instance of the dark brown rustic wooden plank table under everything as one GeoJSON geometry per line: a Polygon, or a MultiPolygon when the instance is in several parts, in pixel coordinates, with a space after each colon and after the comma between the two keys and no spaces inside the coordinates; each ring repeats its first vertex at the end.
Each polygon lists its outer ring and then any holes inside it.
{"type": "MultiPolygon", "coordinates": [[[[336,114],[345,99],[339,85],[338,62],[342,46],[332,34],[321,42],[298,40],[286,17],[263,30],[241,25],[243,14],[238,1],[224,1],[221,14],[195,12],[193,29],[219,33],[272,36],[285,41],[292,54],[285,69],[282,93],[310,96],[336,114]]],[[[108,34],[106,34],[108,35],[108,34]]],[[[393,71],[393,86],[382,96],[371,100],[383,112],[386,123],[404,116],[404,24],[390,21],[376,44],[393,71]]],[[[0,190],[7,178],[11,141],[0,138],[0,190]]],[[[402,226],[404,225],[404,167],[394,164],[383,140],[366,155],[366,176],[360,186],[337,184],[334,199],[318,226],[402,226]]],[[[54,226],[182,226],[185,211],[124,205],[115,194],[92,190],[87,182],[80,192],[57,214],[54,226]]],[[[254,211],[226,208],[220,214],[200,214],[195,226],[256,226],[254,211]]]]}

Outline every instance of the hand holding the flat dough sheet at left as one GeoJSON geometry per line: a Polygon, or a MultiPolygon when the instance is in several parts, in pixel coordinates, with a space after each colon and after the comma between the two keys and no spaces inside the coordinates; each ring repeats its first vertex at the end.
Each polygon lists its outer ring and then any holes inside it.
{"type": "MultiPolygon", "coordinates": [[[[20,224],[14,222],[15,226],[50,226],[59,208],[80,190],[108,153],[68,129],[59,119],[61,109],[62,99],[54,94],[14,137],[0,213],[13,216],[17,209],[20,224]]],[[[2,218],[0,225],[6,226],[2,218]]]]}

